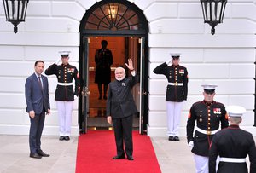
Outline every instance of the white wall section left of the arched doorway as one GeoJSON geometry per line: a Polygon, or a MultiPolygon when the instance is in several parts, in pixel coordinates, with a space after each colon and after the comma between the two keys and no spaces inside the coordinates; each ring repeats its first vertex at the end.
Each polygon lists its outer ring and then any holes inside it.
{"type": "MultiPolygon", "coordinates": [[[[70,50],[70,63],[78,67],[79,21],[90,4],[86,2],[29,1],[26,22],[20,23],[17,34],[13,25],[5,21],[3,5],[0,6],[0,134],[29,132],[24,92],[35,61],[43,60],[46,69],[60,57],[60,50],[70,50]]],[[[54,100],[56,80],[49,76],[51,115],[45,119],[44,135],[59,135],[54,100]]],[[[74,107],[78,107],[78,101],[74,101],[74,107]]],[[[73,111],[72,135],[79,135],[77,108],[73,111]]]]}

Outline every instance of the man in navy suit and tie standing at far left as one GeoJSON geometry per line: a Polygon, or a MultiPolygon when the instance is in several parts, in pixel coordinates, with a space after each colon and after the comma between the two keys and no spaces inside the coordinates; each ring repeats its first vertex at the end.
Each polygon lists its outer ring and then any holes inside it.
{"type": "Polygon", "coordinates": [[[29,147],[30,157],[41,159],[49,154],[41,150],[41,136],[44,128],[44,118],[50,113],[48,79],[42,75],[44,61],[35,62],[35,72],[26,78],[25,96],[26,112],[30,118],[29,147]]]}

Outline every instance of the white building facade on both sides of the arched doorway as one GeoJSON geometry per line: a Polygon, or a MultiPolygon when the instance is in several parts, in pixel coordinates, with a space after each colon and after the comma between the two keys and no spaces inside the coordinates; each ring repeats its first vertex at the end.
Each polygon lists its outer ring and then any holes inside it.
{"type": "MultiPolygon", "coordinates": [[[[0,134],[26,135],[30,121],[25,112],[25,81],[41,59],[48,67],[59,50],[71,50],[70,63],[79,65],[79,25],[96,0],[30,0],[26,21],[13,32],[0,6],[0,134]]],[[[183,104],[181,136],[185,136],[189,108],[203,100],[201,84],[217,84],[215,101],[241,105],[247,113],[242,129],[256,136],[254,124],[256,57],[256,1],[229,0],[224,23],[203,22],[199,0],[134,0],[148,20],[148,136],[166,136],[166,78],[153,69],[181,53],[180,64],[189,72],[189,95],[183,104]]],[[[49,76],[51,115],[44,135],[58,135],[54,101],[56,78],[49,76]]],[[[75,107],[78,101],[75,101],[75,107]]],[[[72,135],[79,135],[78,109],[73,111],[72,135]]]]}

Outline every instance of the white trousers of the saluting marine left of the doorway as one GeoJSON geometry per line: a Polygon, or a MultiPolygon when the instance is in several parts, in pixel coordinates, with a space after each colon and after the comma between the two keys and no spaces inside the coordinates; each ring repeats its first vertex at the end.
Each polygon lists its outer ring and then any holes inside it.
{"type": "Polygon", "coordinates": [[[73,101],[56,101],[59,117],[60,136],[70,136],[73,101]]]}

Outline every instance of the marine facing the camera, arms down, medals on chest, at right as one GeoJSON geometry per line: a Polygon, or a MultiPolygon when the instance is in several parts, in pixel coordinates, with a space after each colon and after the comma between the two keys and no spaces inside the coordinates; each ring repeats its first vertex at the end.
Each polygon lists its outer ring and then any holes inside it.
{"type": "Polygon", "coordinates": [[[219,129],[228,127],[228,116],[224,104],[213,101],[217,85],[204,84],[203,101],[195,102],[189,111],[187,121],[187,140],[194,153],[195,172],[208,172],[208,154],[212,137],[219,129]],[[195,128],[196,122],[196,128],[195,128]],[[195,128],[195,134],[194,133],[195,128]]]}

